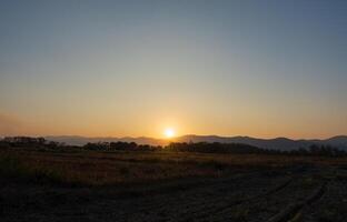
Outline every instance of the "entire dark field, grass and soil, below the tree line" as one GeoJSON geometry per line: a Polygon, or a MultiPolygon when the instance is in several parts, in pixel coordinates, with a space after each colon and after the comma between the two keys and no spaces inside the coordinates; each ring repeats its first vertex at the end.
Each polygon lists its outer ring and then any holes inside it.
{"type": "Polygon", "coordinates": [[[347,159],[0,151],[1,221],[344,221],[347,159]]]}

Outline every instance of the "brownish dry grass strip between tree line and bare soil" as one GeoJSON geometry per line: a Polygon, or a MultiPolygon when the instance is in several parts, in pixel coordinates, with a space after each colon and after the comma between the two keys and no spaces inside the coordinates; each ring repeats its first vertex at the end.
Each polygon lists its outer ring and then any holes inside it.
{"type": "Polygon", "coordinates": [[[220,176],[232,169],[337,164],[346,159],[185,152],[0,151],[0,174],[33,182],[110,185],[189,176],[220,176]]]}

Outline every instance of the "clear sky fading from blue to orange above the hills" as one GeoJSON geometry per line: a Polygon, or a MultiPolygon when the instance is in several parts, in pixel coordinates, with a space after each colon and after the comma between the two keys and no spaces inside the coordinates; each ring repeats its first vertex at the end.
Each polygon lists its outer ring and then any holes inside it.
{"type": "Polygon", "coordinates": [[[347,1],[2,0],[0,135],[347,134],[347,1]]]}

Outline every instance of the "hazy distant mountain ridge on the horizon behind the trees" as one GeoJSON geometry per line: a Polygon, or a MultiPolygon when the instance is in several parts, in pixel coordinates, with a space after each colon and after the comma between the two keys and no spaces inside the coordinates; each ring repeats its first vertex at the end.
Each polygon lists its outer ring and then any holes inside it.
{"type": "Polygon", "coordinates": [[[257,139],[250,137],[219,137],[219,135],[195,135],[187,134],[172,140],[156,138],[88,138],[79,135],[50,135],[47,140],[65,142],[70,145],[85,145],[88,142],[136,142],[138,144],[166,145],[169,142],[220,142],[220,143],[244,143],[262,149],[289,151],[299,148],[309,148],[311,144],[331,145],[347,151],[347,135],[337,135],[326,140],[291,140],[288,138],[257,139]]]}

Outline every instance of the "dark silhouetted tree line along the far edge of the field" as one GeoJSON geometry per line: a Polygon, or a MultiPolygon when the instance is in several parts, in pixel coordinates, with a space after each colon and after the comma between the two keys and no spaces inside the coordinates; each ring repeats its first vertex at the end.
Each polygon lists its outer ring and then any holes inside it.
{"type": "Polygon", "coordinates": [[[0,148],[46,148],[63,149],[76,148],[95,151],[172,151],[172,152],[201,152],[201,153],[261,153],[286,155],[319,155],[319,157],[347,157],[347,152],[331,145],[311,144],[309,148],[299,148],[290,151],[261,149],[242,143],[219,142],[171,142],[166,147],[137,144],[135,142],[97,142],[82,147],[71,147],[65,143],[47,141],[44,138],[11,137],[0,140],[0,148]]]}

